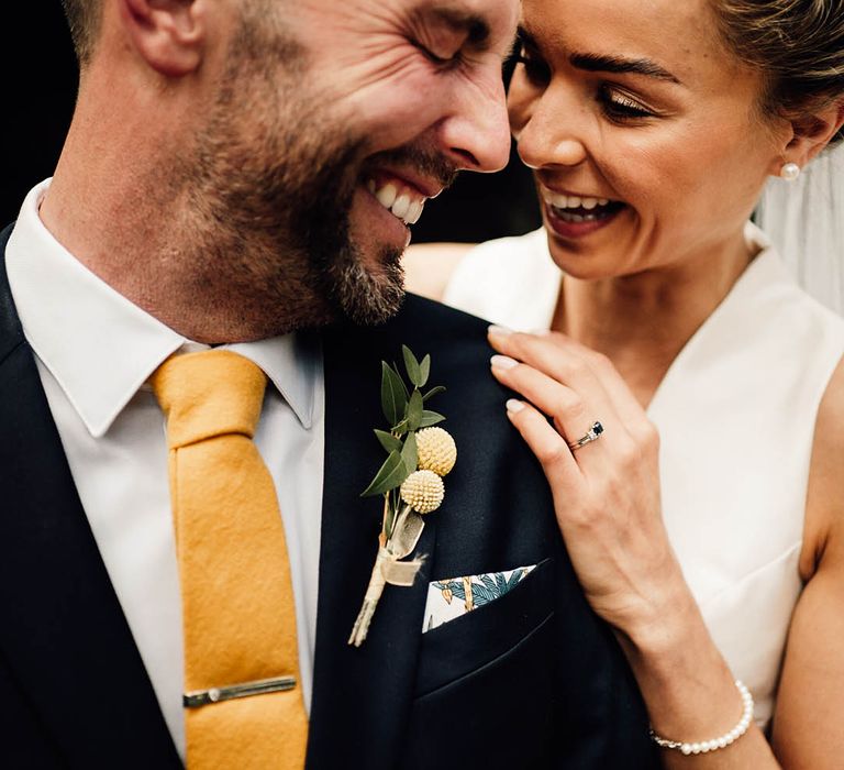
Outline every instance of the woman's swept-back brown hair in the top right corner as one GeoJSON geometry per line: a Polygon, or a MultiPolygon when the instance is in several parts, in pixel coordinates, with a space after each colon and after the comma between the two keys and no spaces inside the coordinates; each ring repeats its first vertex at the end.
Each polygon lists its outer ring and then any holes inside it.
{"type": "MultiPolygon", "coordinates": [[[[763,109],[799,114],[844,98],[842,0],[712,0],[740,59],[767,79],[763,109]]],[[[844,140],[844,129],[833,142],[844,140]]]]}

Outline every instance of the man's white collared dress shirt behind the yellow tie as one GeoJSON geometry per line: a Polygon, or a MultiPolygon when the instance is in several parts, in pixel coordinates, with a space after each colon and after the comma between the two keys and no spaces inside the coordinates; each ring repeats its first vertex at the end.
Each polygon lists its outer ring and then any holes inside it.
{"type": "MultiPolygon", "coordinates": [[[[164,415],[146,383],[171,353],[206,345],[133,305],[53,238],[38,217],[48,185],[35,187],[23,204],[7,246],[9,283],[93,537],[184,757],[167,444],[164,415]]],[[[258,364],[271,383],[255,442],[282,512],[310,708],[324,462],[322,352],[304,334],[226,348],[258,364]]]]}

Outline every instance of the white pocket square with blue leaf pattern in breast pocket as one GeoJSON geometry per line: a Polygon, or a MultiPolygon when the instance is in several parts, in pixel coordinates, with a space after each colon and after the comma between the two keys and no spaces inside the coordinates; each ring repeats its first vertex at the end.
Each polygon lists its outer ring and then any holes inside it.
{"type": "Polygon", "coordinates": [[[447,578],[427,584],[427,600],[422,632],[426,632],[467,613],[495,602],[512,591],[536,564],[517,566],[503,572],[447,578]]]}

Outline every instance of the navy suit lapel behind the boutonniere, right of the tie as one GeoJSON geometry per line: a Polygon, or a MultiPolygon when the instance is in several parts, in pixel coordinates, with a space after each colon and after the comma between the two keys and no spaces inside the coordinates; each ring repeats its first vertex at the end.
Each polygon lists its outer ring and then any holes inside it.
{"type": "MultiPolygon", "coordinates": [[[[369,344],[367,344],[369,342],[369,344]]],[[[325,471],[316,651],[308,767],[367,770],[398,765],[415,681],[427,590],[423,568],[412,587],[387,586],[360,648],[347,640],[377,551],[381,505],[360,492],[385,459],[373,436],[381,427],[380,359],[353,329],[329,332],[325,359],[325,471]]],[[[435,518],[418,553],[432,554],[435,518]]]]}

